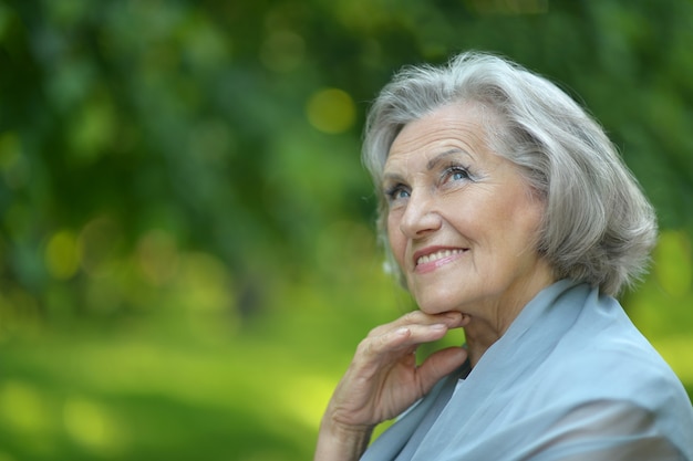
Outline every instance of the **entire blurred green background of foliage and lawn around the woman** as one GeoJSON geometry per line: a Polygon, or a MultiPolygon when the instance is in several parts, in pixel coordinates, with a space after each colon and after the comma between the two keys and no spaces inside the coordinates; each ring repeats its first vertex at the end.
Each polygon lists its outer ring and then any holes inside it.
{"type": "Polygon", "coordinates": [[[0,461],[310,459],[356,343],[412,308],[369,102],[467,49],[622,150],[662,229],[622,301],[692,392],[692,46],[691,0],[0,0],[0,461]]]}

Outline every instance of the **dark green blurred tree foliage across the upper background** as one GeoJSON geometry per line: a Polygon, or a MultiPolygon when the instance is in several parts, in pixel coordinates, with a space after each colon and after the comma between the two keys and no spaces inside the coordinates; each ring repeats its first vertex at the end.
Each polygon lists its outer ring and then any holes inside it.
{"type": "Polygon", "coordinates": [[[4,283],[39,306],[54,282],[71,284],[54,307],[89,312],[89,268],[155,231],[218,255],[241,279],[244,310],[257,308],[256,279],[309,263],[317,230],[371,218],[356,153],[377,88],[405,63],[469,48],[586,101],[663,227],[690,231],[692,13],[664,3],[3,3],[4,283]],[[46,261],[49,242],[80,264],[46,261]]]}

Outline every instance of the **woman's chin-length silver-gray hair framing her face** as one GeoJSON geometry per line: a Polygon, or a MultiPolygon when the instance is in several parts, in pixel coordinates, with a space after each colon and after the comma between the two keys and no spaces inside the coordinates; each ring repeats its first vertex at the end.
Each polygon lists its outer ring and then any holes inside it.
{"type": "Polygon", "coordinates": [[[379,235],[390,266],[396,264],[380,190],[390,147],[406,124],[445,105],[466,103],[497,115],[489,121],[499,124],[486,124],[489,147],[517,165],[545,200],[537,251],[554,275],[587,282],[610,295],[639,280],[656,239],[656,219],[601,126],[548,80],[476,52],[459,54],[444,66],[404,67],[371,107],[363,163],[379,196],[379,235]]]}

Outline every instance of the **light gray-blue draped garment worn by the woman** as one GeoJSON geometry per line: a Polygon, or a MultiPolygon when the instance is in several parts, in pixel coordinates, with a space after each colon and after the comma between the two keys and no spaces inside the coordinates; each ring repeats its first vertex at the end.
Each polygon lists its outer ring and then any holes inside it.
{"type": "Polygon", "coordinates": [[[693,461],[693,407],[613,297],[560,281],[362,460],[693,461]]]}

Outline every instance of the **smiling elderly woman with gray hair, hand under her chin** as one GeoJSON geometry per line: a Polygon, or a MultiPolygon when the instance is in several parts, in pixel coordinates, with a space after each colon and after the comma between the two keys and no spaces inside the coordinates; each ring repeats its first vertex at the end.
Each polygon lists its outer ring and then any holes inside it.
{"type": "Polygon", "coordinates": [[[364,160],[420,310],[359,345],[316,460],[693,460],[691,401],[613,297],[654,213],[578,104],[493,55],[405,69],[364,160]],[[417,366],[451,328],[466,344],[417,366]]]}

